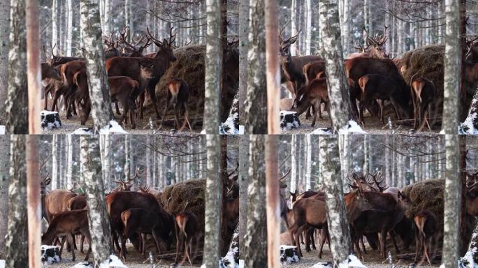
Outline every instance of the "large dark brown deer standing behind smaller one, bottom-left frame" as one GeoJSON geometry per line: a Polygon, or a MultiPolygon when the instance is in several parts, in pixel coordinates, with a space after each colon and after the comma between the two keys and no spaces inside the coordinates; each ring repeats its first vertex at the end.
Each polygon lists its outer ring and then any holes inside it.
{"type": "MultiPolygon", "coordinates": [[[[149,193],[138,193],[131,191],[117,191],[106,196],[106,205],[108,214],[110,214],[111,230],[113,232],[113,243],[119,248],[117,236],[122,241],[124,226],[122,223],[121,214],[126,209],[145,209],[151,211],[152,214],[159,216],[159,221],[163,227],[159,233],[159,239],[166,244],[166,250],[171,245],[173,238],[173,217],[169,215],[157,202],[156,198],[149,193]]],[[[126,237],[131,239],[131,237],[126,237]]],[[[126,254],[124,245],[121,251],[126,254]]]]}

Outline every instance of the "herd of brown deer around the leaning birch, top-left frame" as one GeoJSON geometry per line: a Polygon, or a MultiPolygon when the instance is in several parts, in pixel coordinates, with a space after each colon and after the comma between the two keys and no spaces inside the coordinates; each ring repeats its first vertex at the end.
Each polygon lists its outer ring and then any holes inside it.
{"type": "MultiPolygon", "coordinates": [[[[175,34],[170,29],[170,37],[164,40],[157,40],[146,30],[145,36],[129,39],[129,31],[124,27],[119,31],[119,38],[115,40],[115,34],[104,37],[104,50],[106,72],[110,86],[110,99],[115,103],[115,112],[120,115],[120,123],[127,123],[128,114],[131,121],[131,128],[136,128],[136,111],[139,107],[138,117],[143,119],[143,105],[145,94],[150,96],[154,112],[156,112],[159,123],[159,110],[156,98],[156,86],[161,77],[176,57],[173,53],[175,46],[175,34]],[[157,52],[143,55],[143,52],[150,45],[156,45],[157,52]],[[122,105],[123,112],[119,111],[118,103],[122,105]]],[[[54,47],[51,50],[51,59],[41,65],[42,82],[44,90],[44,110],[48,110],[48,96],[51,95],[51,110],[59,110],[58,101],[64,100],[66,118],[70,119],[72,114],[77,113],[80,108],[80,120],[84,125],[91,112],[92,100],[89,98],[87,64],[84,58],[63,57],[54,54],[54,47]]],[[[45,47],[43,52],[46,57],[45,47]]],[[[83,51],[85,53],[85,51],[83,51]]],[[[180,110],[184,110],[184,124],[180,130],[187,125],[189,129],[189,111],[187,100],[189,98],[189,86],[184,80],[175,79],[167,86],[168,104],[161,119],[161,128],[167,110],[173,106],[175,111],[175,126],[179,128],[180,110]]]]}

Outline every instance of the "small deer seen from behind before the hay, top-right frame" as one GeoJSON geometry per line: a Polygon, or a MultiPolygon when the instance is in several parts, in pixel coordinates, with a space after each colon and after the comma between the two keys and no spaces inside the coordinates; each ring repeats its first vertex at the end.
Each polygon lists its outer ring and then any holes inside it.
{"type": "MultiPolygon", "coordinates": [[[[431,104],[435,101],[437,90],[435,84],[430,80],[422,77],[417,77],[417,73],[410,78],[410,89],[412,94],[412,101],[414,107],[414,128],[418,131],[423,130],[425,124],[428,124],[426,119],[431,116],[431,104]]],[[[433,125],[433,123],[432,123],[433,125]]],[[[428,124],[430,127],[430,124],[428,124]]]]}

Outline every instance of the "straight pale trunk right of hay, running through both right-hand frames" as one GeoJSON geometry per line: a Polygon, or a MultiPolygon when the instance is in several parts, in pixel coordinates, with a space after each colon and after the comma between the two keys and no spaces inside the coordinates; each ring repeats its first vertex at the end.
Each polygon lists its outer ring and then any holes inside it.
{"type": "Polygon", "coordinates": [[[460,1],[445,1],[447,22],[444,53],[444,101],[442,128],[445,134],[444,242],[442,264],[456,267],[460,249],[461,180],[458,142],[458,90],[460,89],[460,1]]]}

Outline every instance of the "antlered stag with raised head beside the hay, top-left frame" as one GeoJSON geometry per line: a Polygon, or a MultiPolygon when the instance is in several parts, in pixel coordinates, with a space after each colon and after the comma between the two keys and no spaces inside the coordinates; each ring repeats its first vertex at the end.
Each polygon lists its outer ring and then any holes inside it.
{"type": "MultiPolygon", "coordinates": [[[[106,71],[110,76],[129,76],[133,80],[138,80],[139,77],[139,66],[138,61],[149,60],[150,63],[154,63],[154,77],[143,86],[140,86],[140,94],[144,94],[145,89],[150,95],[154,106],[154,112],[156,112],[157,124],[159,124],[159,110],[156,103],[156,84],[159,82],[161,77],[166,73],[171,62],[176,60],[176,57],[173,53],[173,42],[175,40],[175,34],[173,35],[173,28],[170,29],[169,40],[164,39],[162,42],[155,39],[151,34],[150,30],[146,29],[146,36],[152,40],[154,45],[157,45],[159,50],[153,54],[147,54],[145,57],[113,57],[106,61],[106,71]]],[[[139,95],[138,95],[139,96],[139,95]]],[[[138,97],[136,96],[136,97],[138,97]]],[[[143,102],[144,98],[140,98],[139,110],[140,118],[143,118],[143,102]]]]}

